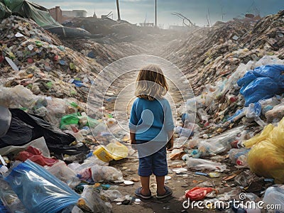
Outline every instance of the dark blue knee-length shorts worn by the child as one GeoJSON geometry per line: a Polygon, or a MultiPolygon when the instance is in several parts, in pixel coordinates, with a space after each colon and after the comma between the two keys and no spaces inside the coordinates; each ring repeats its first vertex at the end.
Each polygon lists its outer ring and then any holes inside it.
{"type": "MultiPolygon", "coordinates": [[[[136,144],[146,143],[148,141],[136,141],[136,144]]],[[[150,143],[155,143],[151,141],[150,143]]],[[[139,149],[138,149],[139,152],[139,149]]],[[[167,164],[167,150],[166,146],[160,148],[159,151],[148,155],[146,157],[139,158],[138,175],[148,177],[152,175],[165,176],[168,175],[168,164],[167,164]]]]}

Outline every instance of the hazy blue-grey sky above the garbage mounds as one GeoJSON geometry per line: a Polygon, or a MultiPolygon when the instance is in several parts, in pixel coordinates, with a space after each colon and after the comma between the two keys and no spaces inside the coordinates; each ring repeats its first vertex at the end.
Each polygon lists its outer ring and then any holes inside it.
{"type": "MultiPolygon", "coordinates": [[[[84,9],[87,16],[107,14],[110,11],[116,15],[116,0],[31,0],[36,4],[50,9],[60,6],[62,10],[84,9]]],[[[121,19],[131,23],[154,22],[155,0],[120,0],[121,19]]],[[[277,13],[284,9],[284,0],[157,0],[158,24],[168,28],[169,24],[182,25],[182,19],[171,13],[178,12],[187,16],[199,26],[207,24],[208,9],[212,24],[215,21],[229,21],[245,13],[259,13],[261,16],[277,13]]]]}

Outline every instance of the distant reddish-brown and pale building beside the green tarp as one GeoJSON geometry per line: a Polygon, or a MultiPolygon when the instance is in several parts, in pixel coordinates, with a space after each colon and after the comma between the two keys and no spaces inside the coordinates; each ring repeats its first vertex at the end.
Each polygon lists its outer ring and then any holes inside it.
{"type": "Polygon", "coordinates": [[[60,6],[55,6],[55,8],[48,10],[50,16],[52,16],[55,21],[63,23],[65,21],[71,21],[75,17],[87,17],[87,11],[84,10],[72,10],[72,11],[62,11],[60,6]]]}

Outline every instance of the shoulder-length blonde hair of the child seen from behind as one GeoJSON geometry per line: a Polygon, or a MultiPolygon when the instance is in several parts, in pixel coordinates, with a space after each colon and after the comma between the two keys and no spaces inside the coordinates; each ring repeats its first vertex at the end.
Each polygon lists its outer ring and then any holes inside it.
{"type": "Polygon", "coordinates": [[[167,92],[168,83],[158,65],[148,65],[140,70],[136,80],[136,97],[153,101],[167,92]]]}

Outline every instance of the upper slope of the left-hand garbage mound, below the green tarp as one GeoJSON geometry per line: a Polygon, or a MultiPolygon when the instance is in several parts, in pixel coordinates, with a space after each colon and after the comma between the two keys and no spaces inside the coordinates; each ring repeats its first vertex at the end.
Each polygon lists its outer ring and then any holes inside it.
{"type": "Polygon", "coordinates": [[[72,43],[80,50],[77,52],[72,45],[70,48],[63,45],[56,35],[19,16],[1,22],[1,38],[2,84],[6,87],[21,84],[33,94],[75,97],[82,102],[87,101],[91,82],[104,66],[141,49],[131,44],[115,47],[77,40],[72,43]]]}

